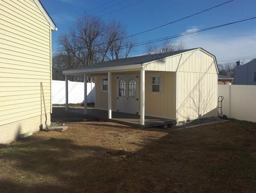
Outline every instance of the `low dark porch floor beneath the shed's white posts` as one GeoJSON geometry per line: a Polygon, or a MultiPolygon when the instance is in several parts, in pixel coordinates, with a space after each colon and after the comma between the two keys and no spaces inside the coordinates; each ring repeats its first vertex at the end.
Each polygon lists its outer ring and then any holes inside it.
{"type": "Polygon", "coordinates": [[[107,110],[100,110],[100,109],[95,109],[95,108],[87,109],[87,114],[83,113],[83,109],[74,109],[74,108],[69,109],[68,113],[83,115],[85,118],[101,119],[104,121],[121,123],[121,124],[138,127],[138,128],[167,126],[169,124],[175,123],[175,120],[173,120],[173,119],[145,116],[145,124],[141,125],[140,124],[140,115],[130,114],[130,113],[112,112],[112,119],[109,119],[107,110]]]}

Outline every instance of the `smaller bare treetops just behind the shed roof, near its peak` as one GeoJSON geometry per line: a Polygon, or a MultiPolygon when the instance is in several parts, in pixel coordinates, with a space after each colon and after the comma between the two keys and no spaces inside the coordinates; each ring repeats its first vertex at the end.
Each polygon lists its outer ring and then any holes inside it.
{"type": "Polygon", "coordinates": [[[184,50],[185,45],[182,42],[169,42],[164,41],[162,46],[156,46],[154,44],[147,44],[146,53],[147,54],[160,54],[166,52],[173,52],[184,50]]]}

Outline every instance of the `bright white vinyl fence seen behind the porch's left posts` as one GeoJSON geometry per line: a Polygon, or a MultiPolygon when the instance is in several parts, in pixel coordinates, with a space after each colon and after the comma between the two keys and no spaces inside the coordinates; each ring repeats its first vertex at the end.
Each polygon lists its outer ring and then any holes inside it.
{"type": "MultiPolygon", "coordinates": [[[[84,83],[68,81],[68,102],[82,103],[84,100],[84,83]]],[[[87,83],[87,101],[95,102],[94,83],[87,83]]],[[[65,81],[52,81],[52,103],[65,104],[65,81]]]]}

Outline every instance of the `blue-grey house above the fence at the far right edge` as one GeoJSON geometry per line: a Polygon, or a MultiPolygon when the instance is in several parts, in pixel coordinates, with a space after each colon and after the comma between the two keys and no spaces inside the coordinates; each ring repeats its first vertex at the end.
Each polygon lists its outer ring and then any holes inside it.
{"type": "Polygon", "coordinates": [[[256,85],[256,59],[234,70],[235,85],[256,85]]]}

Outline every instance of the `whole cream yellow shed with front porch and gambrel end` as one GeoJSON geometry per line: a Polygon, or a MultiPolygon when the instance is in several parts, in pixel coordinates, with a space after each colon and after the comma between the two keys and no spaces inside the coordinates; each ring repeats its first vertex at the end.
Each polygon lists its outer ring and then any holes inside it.
{"type": "MultiPolygon", "coordinates": [[[[217,116],[217,62],[202,48],[115,59],[63,74],[66,82],[68,75],[94,76],[95,109],[86,108],[85,94],[84,112],[76,113],[142,128],[217,116]]],[[[68,111],[67,91],[66,84],[68,111]]]]}

